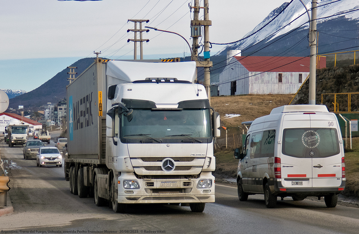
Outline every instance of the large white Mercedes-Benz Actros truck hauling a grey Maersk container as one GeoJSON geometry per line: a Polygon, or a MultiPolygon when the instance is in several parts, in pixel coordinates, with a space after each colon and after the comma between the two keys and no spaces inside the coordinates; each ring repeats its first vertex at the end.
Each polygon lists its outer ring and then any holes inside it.
{"type": "Polygon", "coordinates": [[[70,192],[115,212],[214,202],[219,114],[195,79],[195,62],[97,58],[67,86],[70,192]]]}

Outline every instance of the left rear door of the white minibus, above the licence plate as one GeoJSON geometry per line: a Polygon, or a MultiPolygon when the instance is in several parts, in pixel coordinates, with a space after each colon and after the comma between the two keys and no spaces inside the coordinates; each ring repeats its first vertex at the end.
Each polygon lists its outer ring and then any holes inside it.
{"type": "Polygon", "coordinates": [[[284,187],[312,187],[312,157],[303,144],[303,133],[311,127],[309,114],[285,114],[281,148],[281,177],[284,187]]]}

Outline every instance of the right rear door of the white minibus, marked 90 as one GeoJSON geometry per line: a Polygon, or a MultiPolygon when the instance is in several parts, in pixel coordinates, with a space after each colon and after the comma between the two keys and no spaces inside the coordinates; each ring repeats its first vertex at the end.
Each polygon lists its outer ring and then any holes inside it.
{"type": "Polygon", "coordinates": [[[338,121],[334,114],[310,114],[311,130],[317,139],[312,151],[313,187],[339,187],[341,185],[340,138],[338,121]],[[315,127],[314,127],[315,126],[315,127]]]}

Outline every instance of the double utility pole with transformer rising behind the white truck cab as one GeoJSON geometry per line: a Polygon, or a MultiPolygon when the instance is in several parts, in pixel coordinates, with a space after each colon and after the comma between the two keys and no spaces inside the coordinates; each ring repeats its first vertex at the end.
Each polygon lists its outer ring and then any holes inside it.
{"type": "Polygon", "coordinates": [[[191,20],[191,37],[193,38],[192,43],[192,56],[191,60],[196,61],[196,66],[204,68],[204,86],[206,88],[208,100],[211,103],[211,90],[210,90],[210,71],[209,68],[213,65],[210,61],[210,50],[209,50],[209,26],[212,25],[209,20],[209,3],[208,0],[204,0],[204,7],[200,7],[199,0],[195,0],[194,17],[191,20]],[[204,20],[199,20],[200,8],[204,9],[204,20]],[[204,26],[204,59],[205,61],[198,61],[198,37],[201,36],[201,27],[204,26]],[[198,33],[198,35],[196,34],[198,33]]]}

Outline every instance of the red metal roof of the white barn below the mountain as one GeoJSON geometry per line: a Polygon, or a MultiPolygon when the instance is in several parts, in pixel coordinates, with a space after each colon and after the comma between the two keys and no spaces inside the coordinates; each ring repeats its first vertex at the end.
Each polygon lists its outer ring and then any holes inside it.
{"type": "MultiPolygon", "coordinates": [[[[309,57],[234,56],[234,58],[249,72],[309,72],[309,57]]],[[[326,58],[321,57],[319,68],[325,67],[326,58]]]]}

